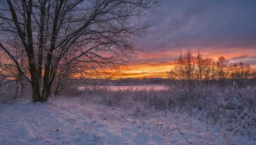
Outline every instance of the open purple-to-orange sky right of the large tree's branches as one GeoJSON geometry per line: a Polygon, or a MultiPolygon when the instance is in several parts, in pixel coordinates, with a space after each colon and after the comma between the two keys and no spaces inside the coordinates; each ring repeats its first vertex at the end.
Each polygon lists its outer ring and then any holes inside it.
{"type": "Polygon", "coordinates": [[[180,51],[256,68],[256,1],[166,0],[147,20],[157,25],[141,38],[124,77],[166,77],[180,51]]]}

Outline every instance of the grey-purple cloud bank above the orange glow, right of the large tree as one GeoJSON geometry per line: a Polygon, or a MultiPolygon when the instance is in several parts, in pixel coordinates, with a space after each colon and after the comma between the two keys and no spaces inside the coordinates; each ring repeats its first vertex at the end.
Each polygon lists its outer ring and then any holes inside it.
{"type": "Polygon", "coordinates": [[[171,0],[148,19],[159,23],[140,42],[149,52],[255,48],[256,1],[171,0]]]}

